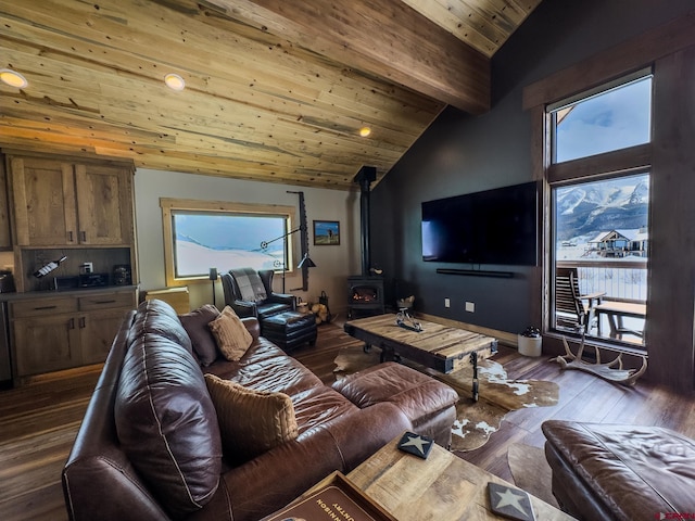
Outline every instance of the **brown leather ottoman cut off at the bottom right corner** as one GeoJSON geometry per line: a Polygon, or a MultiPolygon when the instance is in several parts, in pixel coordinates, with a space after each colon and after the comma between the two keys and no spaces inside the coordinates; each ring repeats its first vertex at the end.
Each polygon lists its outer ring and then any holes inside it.
{"type": "Polygon", "coordinates": [[[671,519],[694,512],[693,440],[658,427],[548,420],[542,429],[553,494],[577,519],[671,519]]]}

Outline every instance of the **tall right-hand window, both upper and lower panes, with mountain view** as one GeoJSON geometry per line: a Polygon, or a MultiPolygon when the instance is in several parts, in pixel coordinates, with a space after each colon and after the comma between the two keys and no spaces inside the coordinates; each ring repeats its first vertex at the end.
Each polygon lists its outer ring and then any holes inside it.
{"type": "Polygon", "coordinates": [[[649,167],[626,174],[607,165],[616,154],[640,156],[650,141],[650,93],[642,73],[548,109],[555,331],[583,328],[603,342],[644,345],[649,167]],[[589,296],[578,302],[576,293],[589,296]]]}

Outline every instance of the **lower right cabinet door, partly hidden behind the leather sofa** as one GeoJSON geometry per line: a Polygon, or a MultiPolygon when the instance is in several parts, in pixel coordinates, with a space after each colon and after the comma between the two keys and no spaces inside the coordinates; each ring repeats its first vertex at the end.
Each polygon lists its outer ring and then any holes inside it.
{"type": "Polygon", "coordinates": [[[123,318],[131,307],[102,309],[79,318],[83,364],[101,364],[106,359],[123,318]]]}

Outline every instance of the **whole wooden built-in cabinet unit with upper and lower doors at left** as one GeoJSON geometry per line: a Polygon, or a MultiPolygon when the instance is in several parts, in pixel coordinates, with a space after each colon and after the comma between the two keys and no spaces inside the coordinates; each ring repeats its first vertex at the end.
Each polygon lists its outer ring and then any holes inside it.
{"type": "MultiPolygon", "coordinates": [[[[2,153],[16,285],[16,297],[7,303],[12,379],[21,384],[36,374],[103,363],[123,317],[137,306],[134,165],[61,153],[2,153]],[[61,257],[66,260],[54,272],[33,275],[61,257]],[[84,263],[92,266],[93,287],[79,278],[86,275],[84,263]],[[121,265],[130,269],[131,281],[109,285],[121,265]],[[50,291],[56,288],[61,291],[50,291]]],[[[0,247],[7,242],[3,220],[0,211],[0,247]]]]}

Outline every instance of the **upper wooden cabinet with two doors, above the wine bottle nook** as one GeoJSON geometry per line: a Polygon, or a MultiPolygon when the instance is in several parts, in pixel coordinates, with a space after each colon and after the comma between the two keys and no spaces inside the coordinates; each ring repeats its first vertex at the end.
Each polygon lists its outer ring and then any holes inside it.
{"type": "Polygon", "coordinates": [[[132,243],[132,170],[111,162],[10,156],[16,246],[132,243]]]}

